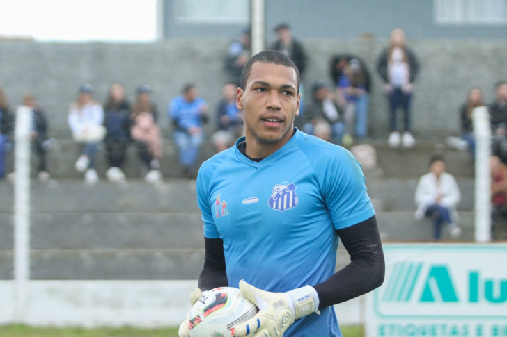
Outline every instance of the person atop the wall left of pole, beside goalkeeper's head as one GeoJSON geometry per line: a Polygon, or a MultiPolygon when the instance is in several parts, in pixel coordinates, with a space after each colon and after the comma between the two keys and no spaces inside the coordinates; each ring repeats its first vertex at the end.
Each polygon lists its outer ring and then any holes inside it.
{"type": "Polygon", "coordinates": [[[243,67],[250,58],[250,27],[244,28],[227,49],[225,66],[231,81],[240,83],[243,67]]]}

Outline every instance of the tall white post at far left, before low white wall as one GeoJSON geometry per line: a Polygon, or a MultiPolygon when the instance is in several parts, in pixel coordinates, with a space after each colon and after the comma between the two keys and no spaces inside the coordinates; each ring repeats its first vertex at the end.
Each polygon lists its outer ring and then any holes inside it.
{"type": "Polygon", "coordinates": [[[14,321],[22,323],[30,279],[30,131],[32,110],[16,110],[14,181],[14,321]]]}

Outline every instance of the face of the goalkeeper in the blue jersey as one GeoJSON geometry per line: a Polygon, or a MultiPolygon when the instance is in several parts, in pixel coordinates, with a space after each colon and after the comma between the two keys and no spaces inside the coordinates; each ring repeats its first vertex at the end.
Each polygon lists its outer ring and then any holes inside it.
{"type": "Polygon", "coordinates": [[[237,89],[236,106],[243,110],[245,136],[260,144],[288,140],[299,115],[297,74],[292,67],[253,63],[245,89],[237,89]]]}

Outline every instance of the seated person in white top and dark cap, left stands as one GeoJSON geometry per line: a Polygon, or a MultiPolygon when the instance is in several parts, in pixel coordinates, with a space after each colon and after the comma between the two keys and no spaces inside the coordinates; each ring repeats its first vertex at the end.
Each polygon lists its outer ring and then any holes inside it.
{"type": "Polygon", "coordinates": [[[95,155],[100,142],[106,135],[104,110],[93,99],[93,87],[89,84],[79,88],[77,100],[70,105],[68,124],[72,131],[72,138],[83,145],[83,151],[75,163],[78,172],[84,173],[86,183],[96,183],[99,179],[95,171],[95,155]]]}

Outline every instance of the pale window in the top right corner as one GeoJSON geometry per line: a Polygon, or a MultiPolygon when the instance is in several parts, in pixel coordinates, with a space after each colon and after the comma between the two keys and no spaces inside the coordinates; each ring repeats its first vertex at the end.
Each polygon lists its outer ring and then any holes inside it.
{"type": "Polygon", "coordinates": [[[434,0],[440,24],[507,24],[507,0],[434,0]]]}

